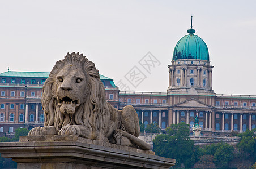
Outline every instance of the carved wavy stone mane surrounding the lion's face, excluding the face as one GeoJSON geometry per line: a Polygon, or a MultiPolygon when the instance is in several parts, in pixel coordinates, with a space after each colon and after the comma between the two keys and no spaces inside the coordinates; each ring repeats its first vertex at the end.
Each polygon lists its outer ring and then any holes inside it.
{"type": "MultiPolygon", "coordinates": [[[[92,131],[100,131],[105,124],[105,117],[109,116],[109,109],[105,109],[105,89],[100,80],[99,71],[95,64],[89,61],[83,54],[67,53],[65,59],[56,62],[49,78],[42,87],[42,109],[45,114],[44,126],[55,126],[59,131],[63,126],[84,125],[92,131]],[[66,65],[79,65],[86,75],[86,90],[83,92],[86,102],[80,104],[75,114],[63,114],[59,110],[56,95],[56,76],[66,65]]],[[[107,125],[107,126],[106,126],[107,125]]],[[[104,128],[105,128],[104,127],[104,128]]]]}

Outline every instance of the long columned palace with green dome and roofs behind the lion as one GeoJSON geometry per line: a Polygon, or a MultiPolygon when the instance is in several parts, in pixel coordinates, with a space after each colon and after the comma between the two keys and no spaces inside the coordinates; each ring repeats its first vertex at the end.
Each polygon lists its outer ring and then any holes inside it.
{"type": "MultiPolygon", "coordinates": [[[[253,130],[256,96],[215,94],[207,45],[192,25],[187,33],[174,48],[167,92],[119,91],[113,79],[100,75],[106,99],[120,110],[133,105],[141,122],[157,123],[161,130],[180,122],[192,127],[195,115],[205,134],[253,130]]],[[[19,127],[44,126],[41,95],[48,77],[44,72],[0,74],[0,132],[11,135],[19,127]]]]}

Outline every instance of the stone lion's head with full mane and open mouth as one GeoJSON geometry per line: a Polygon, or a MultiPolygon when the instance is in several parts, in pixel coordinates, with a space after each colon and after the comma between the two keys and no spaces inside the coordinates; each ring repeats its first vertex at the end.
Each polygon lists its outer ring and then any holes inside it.
{"type": "Polygon", "coordinates": [[[76,124],[100,130],[105,106],[104,86],[94,63],[75,52],[56,62],[42,88],[44,126],[60,130],[76,124]]]}

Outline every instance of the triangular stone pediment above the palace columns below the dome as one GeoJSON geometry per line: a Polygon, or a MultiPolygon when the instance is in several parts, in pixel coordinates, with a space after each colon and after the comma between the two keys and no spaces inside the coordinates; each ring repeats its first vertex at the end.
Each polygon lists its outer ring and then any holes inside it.
{"type": "Polygon", "coordinates": [[[193,107],[193,108],[211,108],[212,107],[211,105],[203,103],[202,101],[199,101],[199,100],[194,99],[194,98],[182,101],[182,102],[177,103],[173,106],[176,106],[176,107],[193,107]]]}

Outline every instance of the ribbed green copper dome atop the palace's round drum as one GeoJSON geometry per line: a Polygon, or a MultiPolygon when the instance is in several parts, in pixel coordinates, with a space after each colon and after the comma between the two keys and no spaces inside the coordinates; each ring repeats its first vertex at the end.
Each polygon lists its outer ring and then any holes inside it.
{"type": "Polygon", "coordinates": [[[174,48],[172,60],[178,59],[200,59],[209,61],[209,52],[206,43],[194,35],[195,30],[187,30],[188,35],[185,35],[178,41],[174,48]]]}

